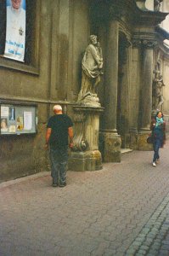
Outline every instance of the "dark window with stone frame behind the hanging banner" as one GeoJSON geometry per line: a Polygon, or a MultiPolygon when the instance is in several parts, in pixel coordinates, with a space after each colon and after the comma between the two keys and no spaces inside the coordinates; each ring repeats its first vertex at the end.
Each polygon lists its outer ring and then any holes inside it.
{"type": "Polygon", "coordinates": [[[37,8],[39,1],[26,0],[25,22],[25,59],[24,62],[14,61],[3,56],[6,39],[6,0],[0,1],[0,67],[18,69],[23,72],[38,74],[38,36],[39,31],[37,8]]]}

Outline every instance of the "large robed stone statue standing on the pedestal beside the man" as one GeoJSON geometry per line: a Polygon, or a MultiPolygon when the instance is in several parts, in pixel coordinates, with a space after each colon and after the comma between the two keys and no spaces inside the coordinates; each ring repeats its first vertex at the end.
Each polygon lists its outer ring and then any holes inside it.
{"type": "Polygon", "coordinates": [[[97,97],[100,75],[103,74],[102,49],[95,35],[90,36],[90,44],[87,46],[82,59],[82,87],[77,102],[84,105],[100,105],[97,97]]]}

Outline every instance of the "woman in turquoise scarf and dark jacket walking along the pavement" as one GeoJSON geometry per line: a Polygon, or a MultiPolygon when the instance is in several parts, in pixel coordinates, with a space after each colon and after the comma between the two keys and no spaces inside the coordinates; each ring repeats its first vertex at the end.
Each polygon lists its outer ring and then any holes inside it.
{"type": "Polygon", "coordinates": [[[154,138],[153,149],[155,153],[153,157],[153,166],[156,166],[160,160],[159,149],[163,147],[166,141],[166,123],[161,111],[158,111],[155,115],[155,119],[152,119],[150,130],[152,131],[152,136],[154,138]]]}

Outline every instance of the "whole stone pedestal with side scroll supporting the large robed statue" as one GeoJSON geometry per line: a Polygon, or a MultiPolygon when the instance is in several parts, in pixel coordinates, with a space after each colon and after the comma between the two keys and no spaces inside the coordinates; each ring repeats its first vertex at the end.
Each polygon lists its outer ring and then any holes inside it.
{"type": "Polygon", "coordinates": [[[104,108],[89,106],[73,107],[74,147],[70,154],[68,168],[71,171],[96,171],[102,169],[99,152],[99,114],[104,108]]]}

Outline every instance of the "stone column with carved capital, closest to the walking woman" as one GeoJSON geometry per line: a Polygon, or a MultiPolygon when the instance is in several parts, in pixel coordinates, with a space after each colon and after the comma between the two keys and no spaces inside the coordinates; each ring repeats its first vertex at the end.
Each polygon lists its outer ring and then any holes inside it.
{"type": "Polygon", "coordinates": [[[138,137],[138,149],[149,150],[146,138],[150,132],[152,111],[152,82],[153,82],[153,47],[155,41],[143,40],[143,63],[141,74],[141,128],[138,137]]]}

